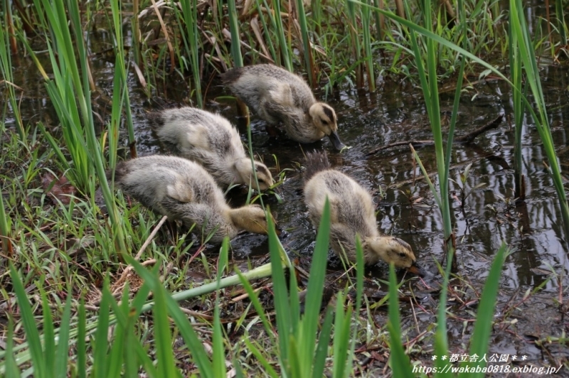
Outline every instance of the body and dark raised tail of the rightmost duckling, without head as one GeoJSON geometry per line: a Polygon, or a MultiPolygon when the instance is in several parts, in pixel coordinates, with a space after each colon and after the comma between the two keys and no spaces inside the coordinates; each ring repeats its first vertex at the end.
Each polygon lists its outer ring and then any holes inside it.
{"type": "Polygon", "coordinates": [[[304,202],[314,226],[320,223],[328,197],[333,238],[353,243],[356,233],[361,237],[378,233],[373,200],[367,190],[348,175],[331,169],[325,153],[308,154],[306,166],[304,202]]]}

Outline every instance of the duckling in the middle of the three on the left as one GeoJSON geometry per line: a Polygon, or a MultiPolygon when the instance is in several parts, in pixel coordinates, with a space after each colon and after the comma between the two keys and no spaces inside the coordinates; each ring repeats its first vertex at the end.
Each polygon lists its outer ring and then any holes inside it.
{"type": "Polygon", "coordinates": [[[149,114],[149,121],[161,141],[179,156],[200,163],[220,185],[252,184],[267,190],[273,184],[265,164],[251,160],[235,127],[218,114],[193,107],[166,109],[149,114]]]}

